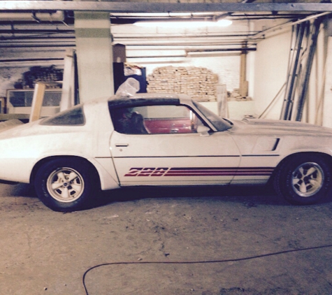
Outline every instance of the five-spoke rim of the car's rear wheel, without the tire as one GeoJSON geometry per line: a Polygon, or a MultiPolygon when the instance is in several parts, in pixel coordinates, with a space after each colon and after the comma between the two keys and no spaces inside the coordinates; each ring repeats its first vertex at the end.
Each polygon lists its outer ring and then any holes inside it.
{"type": "Polygon", "coordinates": [[[57,201],[73,202],[84,192],[84,180],[73,168],[59,168],[48,176],[47,188],[57,201]]]}

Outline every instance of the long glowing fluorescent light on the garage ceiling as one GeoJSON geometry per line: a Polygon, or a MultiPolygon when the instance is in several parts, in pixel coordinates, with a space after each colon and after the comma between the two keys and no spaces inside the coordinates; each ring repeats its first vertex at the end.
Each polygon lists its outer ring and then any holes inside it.
{"type": "Polygon", "coordinates": [[[201,27],[228,27],[231,25],[231,20],[218,20],[213,22],[212,20],[182,20],[182,21],[141,21],[135,22],[135,25],[138,27],[163,27],[163,28],[185,28],[185,29],[194,29],[201,27]]]}

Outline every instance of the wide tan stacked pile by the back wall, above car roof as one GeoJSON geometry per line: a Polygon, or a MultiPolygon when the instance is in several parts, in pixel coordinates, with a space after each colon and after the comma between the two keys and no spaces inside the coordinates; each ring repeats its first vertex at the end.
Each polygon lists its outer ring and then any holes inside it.
{"type": "Polygon", "coordinates": [[[195,66],[163,66],[147,76],[147,92],[187,94],[196,101],[215,101],[218,76],[195,66]]]}

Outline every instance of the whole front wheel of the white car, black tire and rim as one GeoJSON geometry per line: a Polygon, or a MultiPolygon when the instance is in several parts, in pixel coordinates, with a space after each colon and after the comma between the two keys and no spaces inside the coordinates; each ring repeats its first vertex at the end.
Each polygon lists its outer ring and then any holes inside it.
{"type": "Polygon", "coordinates": [[[305,153],[291,157],[280,166],[275,177],[277,194],[294,205],[317,203],[330,189],[330,164],[319,154],[305,153]]]}

